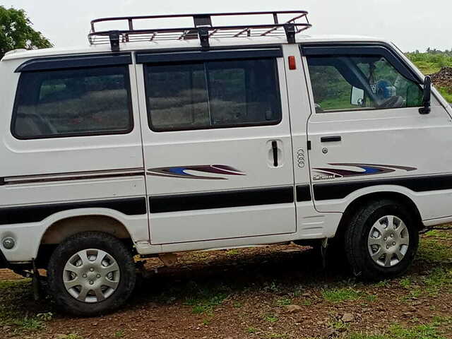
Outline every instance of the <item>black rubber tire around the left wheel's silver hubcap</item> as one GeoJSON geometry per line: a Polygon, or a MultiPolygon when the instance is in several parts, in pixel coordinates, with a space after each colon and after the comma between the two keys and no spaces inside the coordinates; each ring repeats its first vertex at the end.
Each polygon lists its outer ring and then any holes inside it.
{"type": "Polygon", "coordinates": [[[57,305],[76,316],[97,316],[121,307],[130,297],[136,283],[133,255],[117,238],[102,232],[82,232],[61,242],[52,254],[47,268],[49,292],[57,305]],[[101,302],[78,301],[66,290],[63,282],[64,267],[69,259],[84,249],[99,249],[107,252],[119,266],[120,279],[117,289],[101,302]]]}

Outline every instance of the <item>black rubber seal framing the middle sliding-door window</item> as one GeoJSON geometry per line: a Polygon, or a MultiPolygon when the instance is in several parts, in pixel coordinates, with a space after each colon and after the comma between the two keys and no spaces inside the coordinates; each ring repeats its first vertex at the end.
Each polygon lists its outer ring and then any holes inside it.
{"type": "MultiPolygon", "coordinates": [[[[282,53],[281,49],[280,49],[280,51],[282,53]]],[[[275,57],[258,58],[258,59],[275,59],[275,57]]],[[[247,60],[247,59],[232,59],[232,60],[240,61],[240,60],[247,60]]],[[[207,61],[213,61],[213,60],[207,60],[207,61]]],[[[196,61],[192,61],[192,62],[203,64],[204,62],[206,62],[206,60],[196,60],[196,61]]],[[[165,64],[165,63],[160,63],[160,64],[165,64]]],[[[174,63],[171,63],[171,64],[174,64],[174,63]]],[[[276,69],[275,69],[276,74],[275,75],[276,75],[276,85],[277,85],[276,90],[278,92],[279,105],[280,105],[280,109],[281,109],[280,110],[280,112],[281,112],[280,119],[268,122],[267,124],[263,124],[263,123],[250,123],[250,124],[240,124],[240,125],[222,124],[220,126],[186,127],[186,128],[178,128],[178,129],[157,129],[153,125],[152,119],[150,117],[150,108],[149,108],[149,100],[148,100],[148,76],[147,76],[148,71],[147,71],[147,69],[149,66],[152,66],[152,64],[144,64],[143,65],[143,74],[144,74],[144,88],[145,88],[145,100],[146,100],[146,115],[148,116],[148,127],[151,131],[156,132],[156,133],[168,133],[168,132],[179,132],[179,131],[202,131],[202,130],[208,130],[208,129],[239,129],[242,127],[261,127],[261,126],[279,125],[281,123],[281,121],[283,121],[283,102],[282,102],[282,98],[281,98],[280,76],[279,76],[278,64],[276,63],[275,65],[276,65],[276,69]]]]}

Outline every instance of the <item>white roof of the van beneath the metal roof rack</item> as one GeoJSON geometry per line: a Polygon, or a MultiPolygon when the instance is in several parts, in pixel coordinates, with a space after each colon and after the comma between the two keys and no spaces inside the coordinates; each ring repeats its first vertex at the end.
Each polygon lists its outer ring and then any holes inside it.
{"type": "MultiPolygon", "coordinates": [[[[297,35],[297,44],[315,42],[386,42],[376,37],[365,37],[359,35],[297,35]]],[[[234,37],[234,38],[210,38],[211,47],[227,46],[253,46],[265,44],[287,44],[285,37],[234,37]]],[[[184,49],[190,47],[201,47],[199,40],[169,40],[158,42],[121,42],[121,52],[131,52],[149,49],[184,49]]],[[[1,61],[13,59],[30,59],[35,57],[53,57],[72,54],[91,54],[112,52],[109,44],[91,44],[79,47],[53,47],[46,49],[24,50],[18,49],[8,52],[1,61]]]]}

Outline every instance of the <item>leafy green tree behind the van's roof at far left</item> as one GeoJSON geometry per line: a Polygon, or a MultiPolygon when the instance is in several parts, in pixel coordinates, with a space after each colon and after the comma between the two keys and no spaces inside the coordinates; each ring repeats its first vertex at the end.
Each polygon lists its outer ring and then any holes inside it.
{"type": "Polygon", "coordinates": [[[25,11],[0,6],[0,59],[12,49],[47,47],[52,47],[52,43],[32,28],[32,22],[25,11]]]}

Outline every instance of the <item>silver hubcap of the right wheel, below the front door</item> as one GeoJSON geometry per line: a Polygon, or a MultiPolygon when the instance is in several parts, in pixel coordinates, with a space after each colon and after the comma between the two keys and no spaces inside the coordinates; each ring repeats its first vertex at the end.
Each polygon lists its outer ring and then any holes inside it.
{"type": "Polygon", "coordinates": [[[367,246],[371,258],[379,266],[396,266],[410,246],[408,227],[400,218],[386,215],[371,227],[367,246]]]}

